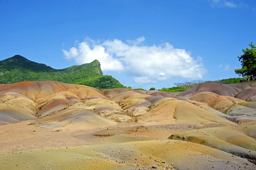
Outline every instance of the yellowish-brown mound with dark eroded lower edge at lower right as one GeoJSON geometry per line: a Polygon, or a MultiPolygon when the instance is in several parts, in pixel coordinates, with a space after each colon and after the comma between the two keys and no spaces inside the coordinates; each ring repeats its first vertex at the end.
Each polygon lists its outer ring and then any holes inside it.
{"type": "Polygon", "coordinates": [[[256,141],[241,127],[212,127],[174,134],[169,139],[204,144],[240,156],[256,164],[256,141]]]}

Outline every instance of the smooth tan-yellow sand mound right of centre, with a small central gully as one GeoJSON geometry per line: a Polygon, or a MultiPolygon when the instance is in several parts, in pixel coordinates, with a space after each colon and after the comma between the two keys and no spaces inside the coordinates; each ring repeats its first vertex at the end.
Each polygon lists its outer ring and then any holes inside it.
{"type": "Polygon", "coordinates": [[[160,101],[155,108],[141,116],[139,122],[186,123],[198,126],[212,123],[234,125],[227,119],[209,113],[189,102],[174,98],[160,101]]]}

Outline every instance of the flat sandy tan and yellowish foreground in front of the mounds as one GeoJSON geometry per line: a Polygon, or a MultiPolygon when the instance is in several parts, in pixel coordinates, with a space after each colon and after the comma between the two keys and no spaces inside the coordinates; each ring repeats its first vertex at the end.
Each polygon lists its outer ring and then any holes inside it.
{"type": "Polygon", "coordinates": [[[0,126],[1,169],[256,168],[247,159],[212,147],[167,139],[198,126],[120,123],[108,128],[56,131],[29,125],[32,122],[0,126]]]}

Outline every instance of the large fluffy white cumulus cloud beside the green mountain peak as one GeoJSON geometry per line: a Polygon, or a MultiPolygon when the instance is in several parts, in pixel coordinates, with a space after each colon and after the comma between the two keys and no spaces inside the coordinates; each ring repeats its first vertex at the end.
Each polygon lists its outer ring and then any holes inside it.
{"type": "Polygon", "coordinates": [[[201,79],[206,73],[201,57],[194,59],[185,49],[174,48],[168,42],[148,46],[143,44],[144,40],[144,37],[126,42],[86,39],[68,51],[63,50],[63,54],[78,64],[98,59],[102,71],[125,71],[139,84],[174,76],[201,79]]]}

